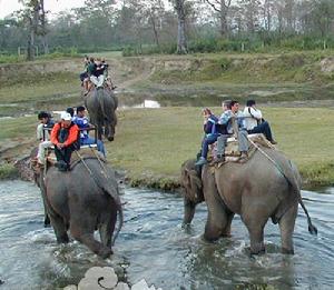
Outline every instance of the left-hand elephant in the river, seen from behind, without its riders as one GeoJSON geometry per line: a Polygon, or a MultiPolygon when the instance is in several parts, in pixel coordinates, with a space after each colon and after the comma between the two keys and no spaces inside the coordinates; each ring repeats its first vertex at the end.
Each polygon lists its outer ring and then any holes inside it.
{"type": "Polygon", "coordinates": [[[68,242],[67,231],[102,258],[112,253],[111,244],[122,226],[122,208],[115,171],[94,157],[81,157],[68,172],[50,167],[39,183],[46,211],[59,243],[68,242]],[[112,233],[119,213],[118,230],[112,233]],[[95,240],[99,230],[101,242],[95,240]]]}

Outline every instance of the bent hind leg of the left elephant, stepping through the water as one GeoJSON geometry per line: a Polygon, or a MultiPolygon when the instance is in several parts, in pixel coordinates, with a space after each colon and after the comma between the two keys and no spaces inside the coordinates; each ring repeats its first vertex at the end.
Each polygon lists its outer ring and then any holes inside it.
{"type": "Polygon", "coordinates": [[[70,223],[70,233],[71,236],[86,244],[92,252],[105,258],[108,258],[112,251],[110,248],[104,246],[101,242],[94,239],[95,224],[92,221],[96,221],[95,217],[85,216],[82,212],[71,212],[72,217],[76,217],[71,220],[70,223]]]}

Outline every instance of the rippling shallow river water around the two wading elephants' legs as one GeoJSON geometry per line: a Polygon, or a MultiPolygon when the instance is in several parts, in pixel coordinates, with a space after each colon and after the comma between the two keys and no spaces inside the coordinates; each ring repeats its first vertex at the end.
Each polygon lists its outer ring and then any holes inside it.
{"type": "Polygon", "coordinates": [[[56,243],[42,226],[39,189],[29,182],[0,182],[0,279],[2,289],[57,289],[78,283],[92,266],[112,266],[122,279],[173,289],[333,289],[334,189],[303,191],[318,236],[307,231],[299,209],[295,256],[279,253],[278,227],[266,226],[267,252],[249,257],[248,236],[238,217],[233,237],[200,239],[206,208],[198,207],[190,229],[181,228],[177,194],[126,189],[125,224],[111,259],[99,259],[77,242],[56,243]],[[266,288],[268,286],[268,288],[266,288]]]}

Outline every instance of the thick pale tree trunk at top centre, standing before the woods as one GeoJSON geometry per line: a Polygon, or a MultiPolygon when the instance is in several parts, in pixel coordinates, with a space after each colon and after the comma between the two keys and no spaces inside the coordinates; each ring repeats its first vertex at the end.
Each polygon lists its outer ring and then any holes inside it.
{"type": "Polygon", "coordinates": [[[177,12],[177,50],[179,54],[188,53],[187,40],[186,40],[186,14],[184,9],[185,0],[176,0],[176,12],[177,12]]]}

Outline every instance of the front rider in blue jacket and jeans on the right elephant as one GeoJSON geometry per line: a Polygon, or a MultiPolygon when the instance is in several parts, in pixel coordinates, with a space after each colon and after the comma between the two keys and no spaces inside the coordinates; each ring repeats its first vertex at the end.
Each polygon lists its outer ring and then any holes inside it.
{"type": "Polygon", "coordinates": [[[205,137],[202,141],[202,153],[198,161],[195,163],[196,166],[203,166],[207,163],[207,152],[208,152],[208,146],[213,144],[217,141],[217,138],[219,137],[219,128],[218,128],[218,118],[214,116],[210,111],[210,109],[205,108],[203,110],[203,117],[204,117],[204,132],[205,137]]]}

